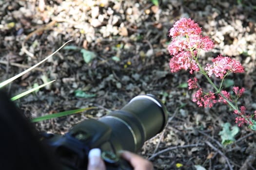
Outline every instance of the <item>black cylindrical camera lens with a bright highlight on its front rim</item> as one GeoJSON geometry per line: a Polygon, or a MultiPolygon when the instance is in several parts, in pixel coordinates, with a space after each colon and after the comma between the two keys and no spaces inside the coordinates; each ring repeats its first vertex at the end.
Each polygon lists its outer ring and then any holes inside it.
{"type": "Polygon", "coordinates": [[[167,110],[155,96],[139,95],[99,121],[111,127],[110,142],[116,152],[137,152],[146,140],[163,130],[167,123],[167,110]]]}

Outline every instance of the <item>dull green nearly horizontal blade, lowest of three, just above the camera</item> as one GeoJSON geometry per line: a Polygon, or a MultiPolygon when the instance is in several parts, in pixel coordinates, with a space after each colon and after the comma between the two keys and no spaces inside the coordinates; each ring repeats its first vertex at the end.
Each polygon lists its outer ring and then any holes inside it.
{"type": "Polygon", "coordinates": [[[53,119],[53,118],[58,118],[58,117],[62,117],[62,116],[68,116],[68,115],[72,115],[75,113],[80,113],[86,110],[91,110],[91,109],[95,109],[97,107],[88,107],[88,108],[83,108],[83,109],[75,109],[75,110],[68,110],[68,111],[64,111],[64,112],[59,112],[59,113],[54,113],[54,114],[50,114],[50,115],[45,115],[45,116],[41,116],[35,119],[32,119],[32,122],[38,122],[38,121],[42,121],[42,120],[48,120],[48,119],[53,119]]]}

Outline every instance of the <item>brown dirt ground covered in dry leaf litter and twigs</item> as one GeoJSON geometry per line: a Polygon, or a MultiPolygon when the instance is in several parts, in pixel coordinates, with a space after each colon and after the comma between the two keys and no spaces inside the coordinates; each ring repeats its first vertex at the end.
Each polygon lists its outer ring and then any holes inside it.
{"type": "MultiPolygon", "coordinates": [[[[97,109],[36,123],[39,130],[64,134],[86,119],[120,109],[139,94],[156,95],[167,106],[163,133],[139,152],[156,170],[256,170],[256,132],[240,128],[223,147],[221,125],[235,125],[226,105],[198,108],[194,91],[183,87],[188,71],[171,73],[167,36],[174,22],[190,17],[215,43],[201,54],[239,60],[245,73],[228,77],[246,91],[239,104],[256,110],[255,0],[1,0],[0,82],[65,49],[4,87],[11,96],[49,80],[51,86],[20,99],[28,118],[97,106],[97,109]],[[79,90],[79,91],[78,91],[79,90]],[[78,93],[80,92],[80,93],[78,93]],[[83,96],[78,96],[78,95],[83,96]]],[[[206,86],[203,78],[199,84],[206,86]]],[[[232,89],[230,87],[227,90],[232,89]]]]}

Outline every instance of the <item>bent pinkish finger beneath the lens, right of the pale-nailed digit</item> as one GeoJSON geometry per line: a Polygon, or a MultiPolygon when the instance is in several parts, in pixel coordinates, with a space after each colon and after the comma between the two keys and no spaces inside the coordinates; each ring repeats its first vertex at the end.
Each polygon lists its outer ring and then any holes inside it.
{"type": "Polygon", "coordinates": [[[131,153],[128,151],[122,151],[121,157],[130,162],[134,170],[153,170],[153,165],[150,161],[144,159],[138,154],[131,153]]]}

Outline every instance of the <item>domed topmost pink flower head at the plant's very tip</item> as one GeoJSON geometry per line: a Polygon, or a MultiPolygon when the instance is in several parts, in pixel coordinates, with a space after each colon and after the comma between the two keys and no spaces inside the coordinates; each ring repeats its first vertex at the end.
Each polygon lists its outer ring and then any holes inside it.
{"type": "Polygon", "coordinates": [[[192,19],[181,18],[175,22],[173,28],[171,28],[169,32],[169,36],[174,38],[176,36],[189,36],[191,34],[199,35],[201,32],[201,28],[192,19]]]}

